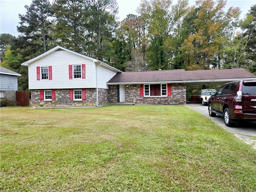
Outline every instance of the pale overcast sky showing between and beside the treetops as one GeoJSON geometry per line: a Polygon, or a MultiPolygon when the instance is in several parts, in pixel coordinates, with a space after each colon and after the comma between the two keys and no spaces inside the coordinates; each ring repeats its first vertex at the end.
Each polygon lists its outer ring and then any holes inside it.
{"type": "MultiPolygon", "coordinates": [[[[178,0],[172,0],[176,4],[178,0]]],[[[25,5],[30,6],[32,0],[0,0],[0,34],[8,33],[18,36],[17,26],[19,26],[19,14],[26,14],[25,5]]],[[[119,20],[126,18],[128,14],[137,14],[136,9],[140,5],[140,0],[116,0],[118,3],[119,20]]],[[[190,5],[194,5],[195,0],[190,0],[190,5]]],[[[233,7],[240,7],[242,10],[241,18],[250,10],[256,0],[227,0],[226,10],[233,7]]]]}

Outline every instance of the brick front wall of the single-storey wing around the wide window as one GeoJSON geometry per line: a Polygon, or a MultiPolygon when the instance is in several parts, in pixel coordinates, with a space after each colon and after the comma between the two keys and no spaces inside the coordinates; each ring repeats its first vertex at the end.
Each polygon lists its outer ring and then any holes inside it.
{"type": "MultiPolygon", "coordinates": [[[[108,94],[109,103],[118,103],[117,86],[109,86],[108,94]]],[[[141,97],[140,85],[128,85],[126,86],[126,103],[135,104],[186,104],[186,85],[184,84],[172,84],[172,92],[170,97],[141,97]]]]}

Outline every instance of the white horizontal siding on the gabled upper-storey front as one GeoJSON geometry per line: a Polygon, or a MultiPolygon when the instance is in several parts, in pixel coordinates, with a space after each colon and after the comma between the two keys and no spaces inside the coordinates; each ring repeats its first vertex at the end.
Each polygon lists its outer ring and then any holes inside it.
{"type": "MultiPolygon", "coordinates": [[[[95,64],[87,58],[67,51],[55,51],[28,66],[29,89],[95,88],[95,64]],[[69,65],[86,65],[86,79],[69,79],[69,65]],[[36,80],[36,67],[52,66],[52,80],[36,80]]],[[[106,82],[105,82],[106,84],[106,82]]]]}

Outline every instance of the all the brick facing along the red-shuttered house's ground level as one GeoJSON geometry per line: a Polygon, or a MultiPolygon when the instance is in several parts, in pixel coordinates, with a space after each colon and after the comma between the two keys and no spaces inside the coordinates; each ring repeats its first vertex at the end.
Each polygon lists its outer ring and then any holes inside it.
{"type": "MultiPolygon", "coordinates": [[[[141,97],[140,84],[126,85],[126,103],[134,104],[150,104],[150,105],[173,105],[186,104],[186,85],[172,84],[171,96],[155,96],[155,97],[141,97]]],[[[40,90],[33,90],[31,92],[31,106],[32,107],[88,107],[96,106],[96,89],[86,89],[86,100],[69,100],[69,90],[55,90],[55,101],[41,101],[40,90]]],[[[118,103],[118,86],[110,85],[109,89],[98,89],[98,105],[118,103]]]]}

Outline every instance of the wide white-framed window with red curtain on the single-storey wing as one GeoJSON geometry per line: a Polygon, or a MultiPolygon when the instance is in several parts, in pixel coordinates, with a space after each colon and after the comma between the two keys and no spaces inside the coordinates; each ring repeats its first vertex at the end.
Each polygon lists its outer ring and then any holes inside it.
{"type": "Polygon", "coordinates": [[[145,84],[144,96],[167,96],[167,84],[145,84]]]}

